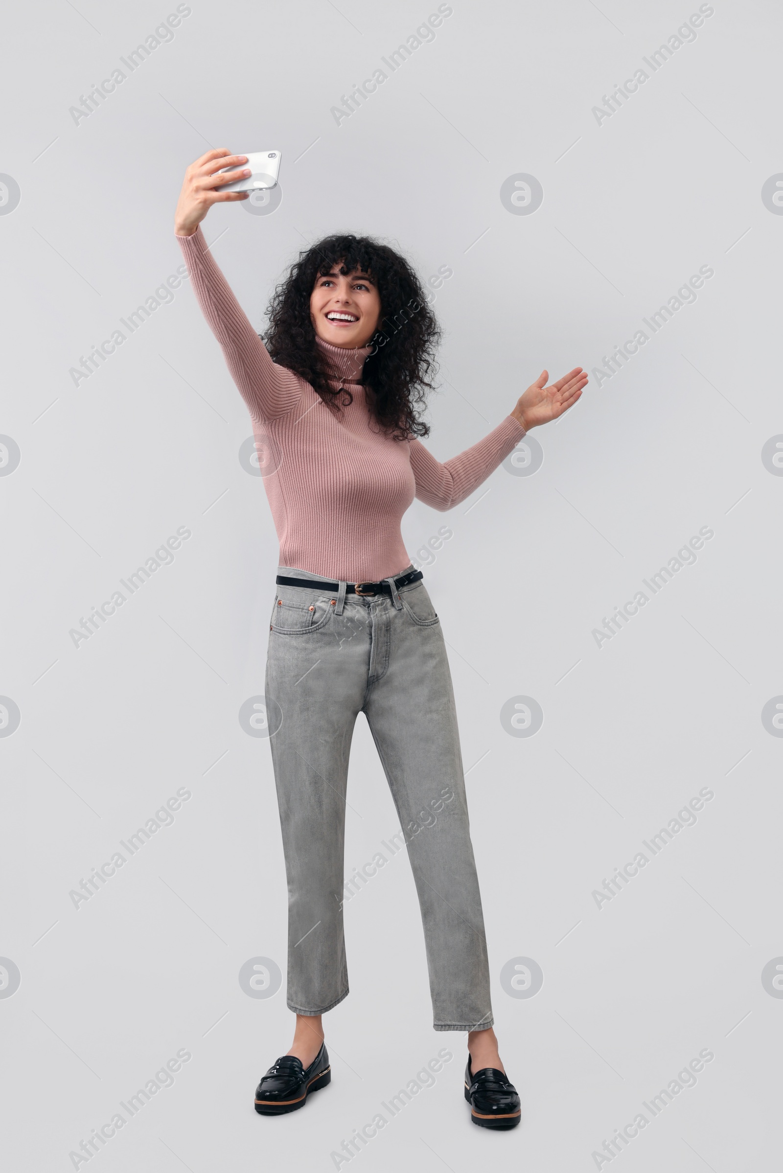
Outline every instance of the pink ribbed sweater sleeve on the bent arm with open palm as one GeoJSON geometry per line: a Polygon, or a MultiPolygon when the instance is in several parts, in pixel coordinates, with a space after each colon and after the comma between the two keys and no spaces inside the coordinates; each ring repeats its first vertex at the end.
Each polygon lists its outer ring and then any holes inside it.
{"type": "Polygon", "coordinates": [[[486,481],[527,433],[507,415],[484,440],[441,465],[418,440],[411,440],[416,496],[433,509],[451,509],[486,481]]]}

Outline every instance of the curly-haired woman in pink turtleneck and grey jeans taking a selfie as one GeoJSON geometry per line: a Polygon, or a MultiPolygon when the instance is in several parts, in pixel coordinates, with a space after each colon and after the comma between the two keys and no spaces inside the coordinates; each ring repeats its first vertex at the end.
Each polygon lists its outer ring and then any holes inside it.
{"type": "Polygon", "coordinates": [[[185,172],[175,216],[201,308],[252,418],[281,543],[265,701],[289,889],[293,1042],[256,1090],[262,1114],[302,1107],[331,1079],[322,1015],[346,994],[343,842],[349,751],[365,713],[413,869],[434,1029],[467,1031],[465,1098],[482,1127],[519,1124],[492,1029],[481,899],[440,621],[403,545],[414,496],[467,497],[526,432],[581,395],[575,367],[541,375],[502,422],[441,465],[419,442],[438,326],[407,262],[333,236],[276,290],[264,345],[198,228],[244,155],[210,150],[185,172]],[[221,168],[231,167],[227,174],[221,168]]]}

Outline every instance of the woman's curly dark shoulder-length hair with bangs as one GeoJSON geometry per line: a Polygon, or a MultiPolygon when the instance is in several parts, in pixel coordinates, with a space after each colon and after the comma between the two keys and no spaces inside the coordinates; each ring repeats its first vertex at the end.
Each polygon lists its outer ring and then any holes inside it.
{"type": "Polygon", "coordinates": [[[376,420],[397,440],[428,435],[419,412],[434,386],[440,328],[412,266],[372,237],[328,236],[299,253],[266,310],[269,328],[262,337],[272,360],[306,379],[326,406],[339,411],[340,404],[352,402],[347,387],[329,386],[310,318],[316,280],[335,265],[343,276],[355,270],[371,276],[380,297],[379,328],[362,375],[362,385],[373,392],[369,401],[376,420]]]}

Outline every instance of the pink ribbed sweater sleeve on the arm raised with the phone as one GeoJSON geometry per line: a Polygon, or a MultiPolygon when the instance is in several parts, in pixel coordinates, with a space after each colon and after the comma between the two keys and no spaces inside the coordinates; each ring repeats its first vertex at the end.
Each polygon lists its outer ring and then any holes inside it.
{"type": "Polygon", "coordinates": [[[235,298],[201,231],[178,236],[194,292],[204,318],[223,348],[225,362],[255,420],[285,415],[299,401],[296,375],[272,362],[269,352],[235,298]]]}

